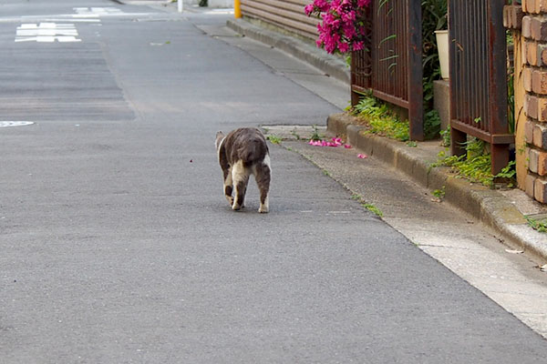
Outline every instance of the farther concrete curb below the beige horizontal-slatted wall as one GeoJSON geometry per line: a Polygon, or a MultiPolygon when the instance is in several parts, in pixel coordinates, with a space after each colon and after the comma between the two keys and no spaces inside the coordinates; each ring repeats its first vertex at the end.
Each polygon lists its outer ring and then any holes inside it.
{"type": "Polygon", "coordinates": [[[282,35],[263,27],[253,25],[243,19],[228,20],[226,25],[233,31],[248,36],[254,40],[266,45],[274,46],[282,51],[294,56],[315,68],[320,69],[326,75],[333,76],[349,84],[349,69],[346,63],[336,57],[327,54],[325,51],[316,48],[313,45],[288,35],[282,35]]]}

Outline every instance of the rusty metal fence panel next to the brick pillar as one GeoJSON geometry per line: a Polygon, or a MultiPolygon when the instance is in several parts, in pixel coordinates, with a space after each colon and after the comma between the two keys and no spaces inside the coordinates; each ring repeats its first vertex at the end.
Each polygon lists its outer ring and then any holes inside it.
{"type": "Polygon", "coordinates": [[[514,136],[507,119],[504,0],[450,0],[450,126],[452,155],[467,136],[490,143],[492,174],[509,163],[514,136]]]}

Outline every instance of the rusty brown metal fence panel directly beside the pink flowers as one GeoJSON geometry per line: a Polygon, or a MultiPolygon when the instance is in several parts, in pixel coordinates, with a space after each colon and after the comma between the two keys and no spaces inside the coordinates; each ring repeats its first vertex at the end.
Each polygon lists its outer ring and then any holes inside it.
{"type": "Polygon", "coordinates": [[[420,0],[373,0],[368,44],[352,55],[352,104],[367,89],[408,110],[410,138],[423,140],[420,0]]]}

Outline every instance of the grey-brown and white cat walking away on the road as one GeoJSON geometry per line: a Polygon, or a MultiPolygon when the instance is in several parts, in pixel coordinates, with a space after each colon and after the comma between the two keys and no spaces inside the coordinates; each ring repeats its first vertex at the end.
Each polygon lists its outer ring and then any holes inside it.
{"type": "Polygon", "coordinates": [[[232,209],[237,211],[244,207],[247,184],[253,175],[260,191],[258,212],[267,213],[272,168],[270,151],[261,131],[255,127],[242,127],[226,136],[220,131],[215,146],[224,177],[224,195],[232,209]]]}

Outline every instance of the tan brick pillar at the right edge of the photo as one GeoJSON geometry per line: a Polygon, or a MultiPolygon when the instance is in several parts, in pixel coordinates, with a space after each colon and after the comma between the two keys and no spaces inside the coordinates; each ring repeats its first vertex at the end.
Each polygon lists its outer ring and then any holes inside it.
{"type": "Polygon", "coordinates": [[[522,0],[526,193],[547,203],[547,0],[522,0]]]}

